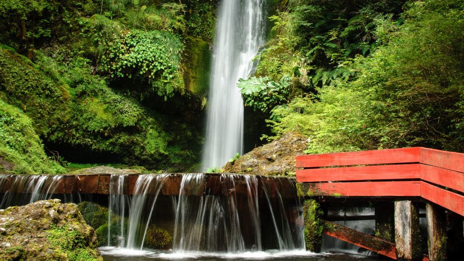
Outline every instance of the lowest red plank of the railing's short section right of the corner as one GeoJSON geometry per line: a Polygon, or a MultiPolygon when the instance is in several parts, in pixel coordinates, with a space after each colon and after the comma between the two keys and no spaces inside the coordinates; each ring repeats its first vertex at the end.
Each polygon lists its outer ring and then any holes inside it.
{"type": "Polygon", "coordinates": [[[426,182],[422,183],[421,194],[423,198],[464,216],[464,196],[426,182]]]}

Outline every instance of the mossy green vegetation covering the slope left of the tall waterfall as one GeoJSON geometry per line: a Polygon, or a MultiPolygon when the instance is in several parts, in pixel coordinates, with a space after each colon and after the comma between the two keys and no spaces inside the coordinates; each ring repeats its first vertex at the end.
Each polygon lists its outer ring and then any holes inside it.
{"type": "Polygon", "coordinates": [[[99,160],[194,169],[215,10],[211,0],[0,0],[3,172],[99,160]]]}

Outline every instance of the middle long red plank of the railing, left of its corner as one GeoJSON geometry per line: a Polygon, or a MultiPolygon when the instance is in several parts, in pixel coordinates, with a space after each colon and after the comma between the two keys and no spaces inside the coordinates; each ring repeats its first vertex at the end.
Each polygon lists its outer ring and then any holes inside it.
{"type": "Polygon", "coordinates": [[[421,164],[297,170],[298,182],[419,179],[421,164]]]}

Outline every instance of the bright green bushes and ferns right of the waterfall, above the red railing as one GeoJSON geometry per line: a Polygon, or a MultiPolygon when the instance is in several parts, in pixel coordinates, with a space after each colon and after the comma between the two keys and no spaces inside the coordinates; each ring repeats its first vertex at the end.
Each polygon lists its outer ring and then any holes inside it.
{"type": "Polygon", "coordinates": [[[308,135],[308,153],[464,151],[464,1],[290,0],[271,20],[258,78],[239,87],[273,108],[275,137],[308,135]],[[282,76],[292,84],[265,90],[282,76]]]}

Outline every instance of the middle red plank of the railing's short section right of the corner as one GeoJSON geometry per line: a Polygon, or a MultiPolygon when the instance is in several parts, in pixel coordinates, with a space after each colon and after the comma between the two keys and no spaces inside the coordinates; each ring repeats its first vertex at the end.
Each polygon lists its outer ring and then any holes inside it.
{"type": "Polygon", "coordinates": [[[421,180],[464,193],[464,173],[421,164],[421,180]]]}

